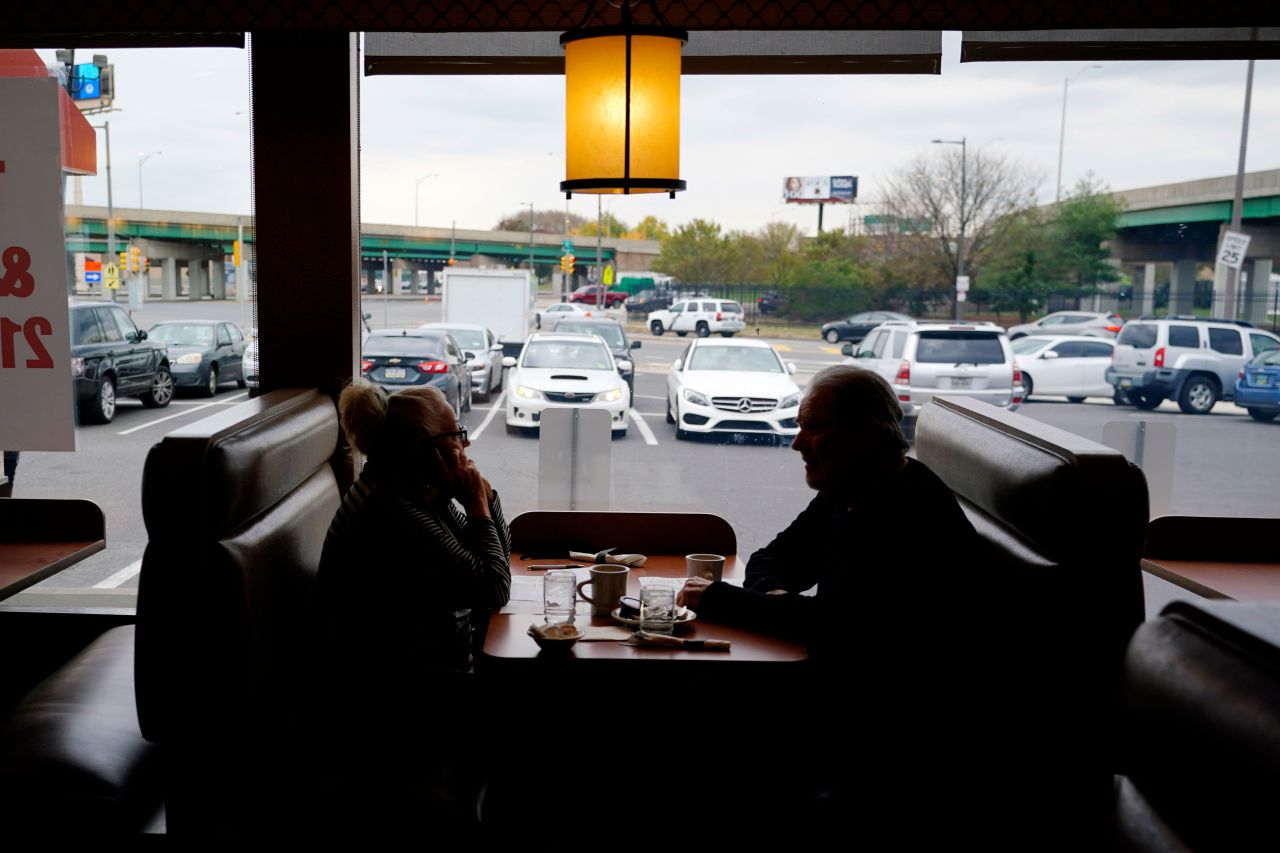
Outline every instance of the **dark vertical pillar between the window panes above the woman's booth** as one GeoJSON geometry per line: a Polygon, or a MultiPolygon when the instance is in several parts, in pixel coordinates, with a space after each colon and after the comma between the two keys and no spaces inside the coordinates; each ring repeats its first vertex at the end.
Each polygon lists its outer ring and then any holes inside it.
{"type": "Polygon", "coordinates": [[[358,36],[255,32],[250,63],[262,391],[337,396],[360,356],[358,36]]]}

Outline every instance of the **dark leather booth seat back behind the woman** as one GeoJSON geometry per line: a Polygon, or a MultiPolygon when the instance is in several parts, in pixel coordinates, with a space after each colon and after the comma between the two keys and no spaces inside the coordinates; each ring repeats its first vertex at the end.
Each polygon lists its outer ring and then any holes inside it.
{"type": "Polygon", "coordinates": [[[170,433],[147,456],[137,707],[164,751],[173,835],[232,838],[288,820],[338,434],[329,397],[280,391],[170,433]]]}

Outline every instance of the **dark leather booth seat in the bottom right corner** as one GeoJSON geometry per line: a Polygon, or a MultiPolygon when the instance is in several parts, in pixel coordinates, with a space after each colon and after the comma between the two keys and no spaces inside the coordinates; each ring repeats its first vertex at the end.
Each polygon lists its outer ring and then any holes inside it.
{"type": "Polygon", "coordinates": [[[1280,606],[1174,602],[1125,657],[1119,850],[1272,850],[1280,606]]]}

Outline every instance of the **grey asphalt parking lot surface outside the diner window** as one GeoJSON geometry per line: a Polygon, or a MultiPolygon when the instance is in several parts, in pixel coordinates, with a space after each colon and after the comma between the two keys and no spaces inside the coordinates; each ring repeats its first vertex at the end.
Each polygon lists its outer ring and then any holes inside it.
{"type": "MultiPolygon", "coordinates": [[[[439,305],[422,301],[366,302],[371,323],[416,325],[439,319],[439,305]]],[[[142,328],[163,319],[207,316],[230,319],[243,327],[244,306],[236,304],[155,304],[138,313],[142,328]]],[[[804,484],[799,457],[786,446],[755,435],[704,437],[677,441],[667,424],[666,378],[671,362],[691,338],[660,338],[640,333],[635,351],[636,391],[628,437],[611,444],[611,494],[614,507],[634,510],[694,510],[716,512],[733,525],[739,552],[767,543],[813,497],[804,484]]],[[[795,362],[803,387],[818,370],[841,360],[838,347],[823,341],[776,339],[782,357],[795,362]]],[[[504,392],[503,392],[504,393],[504,392]]],[[[28,603],[52,587],[93,589],[104,601],[128,596],[137,585],[137,570],[146,544],[141,519],[140,482],[147,450],[166,432],[193,423],[219,409],[243,402],[246,393],[232,387],[212,400],[179,397],[168,409],[147,410],[134,400],[120,402],[114,423],[78,430],[74,453],[23,453],[17,493],[22,497],[81,497],[106,512],[108,548],[79,566],[27,593],[28,603]],[[113,598],[114,597],[114,598],[113,598]]],[[[511,435],[503,428],[504,400],[477,402],[463,419],[471,430],[471,453],[503,497],[508,516],[536,508],[539,447],[536,435],[511,435]]],[[[1165,403],[1139,412],[1117,409],[1106,400],[1069,403],[1043,400],[1024,405],[1020,414],[1043,420],[1093,441],[1102,439],[1108,421],[1169,421],[1178,434],[1172,508],[1184,514],[1276,515],[1275,482],[1280,475],[1280,423],[1254,423],[1244,410],[1219,403],[1204,416],[1183,415],[1165,403]]],[[[192,523],[198,496],[175,494],[187,502],[192,523]]],[[[904,507],[905,512],[910,507],[904,507]]],[[[922,534],[928,520],[922,519],[922,534]]],[[[1107,520],[1098,519],[1105,538],[1107,520]]],[[[1082,532],[1091,534],[1093,532],[1082,532]]],[[[56,593],[49,593],[56,594],[56,593]]],[[[13,603],[22,605],[23,599],[13,603]]]]}

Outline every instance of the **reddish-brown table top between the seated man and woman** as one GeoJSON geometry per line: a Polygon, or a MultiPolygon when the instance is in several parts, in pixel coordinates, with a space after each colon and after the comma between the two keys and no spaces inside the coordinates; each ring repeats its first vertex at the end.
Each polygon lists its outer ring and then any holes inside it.
{"type": "MultiPolygon", "coordinates": [[[[511,569],[515,585],[527,583],[527,578],[538,578],[544,573],[530,570],[530,564],[570,562],[562,558],[526,560],[518,555],[512,555],[511,569]]],[[[724,579],[730,583],[741,581],[745,565],[737,560],[737,555],[726,555],[724,579]]],[[[576,570],[584,579],[588,569],[576,570]]],[[[640,590],[641,578],[685,578],[684,555],[652,555],[645,561],[644,567],[632,569],[627,578],[627,594],[636,596],[640,590]]],[[[517,663],[521,661],[547,660],[529,637],[529,626],[540,622],[543,608],[541,601],[512,601],[502,612],[495,613],[489,620],[489,634],[485,638],[480,666],[498,666],[503,663],[517,663]]],[[[579,603],[576,622],[581,628],[607,628],[616,626],[607,616],[591,616],[589,605],[579,603]]],[[[620,634],[621,635],[621,634],[620,634]]],[[[741,628],[709,622],[704,619],[695,619],[689,625],[681,628],[677,637],[687,639],[727,639],[732,647],[727,652],[685,651],[677,648],[650,648],[623,646],[613,640],[579,640],[572,649],[564,653],[554,653],[556,660],[579,661],[687,661],[721,663],[796,663],[809,658],[804,646],[765,634],[758,634],[741,628]]]]}

